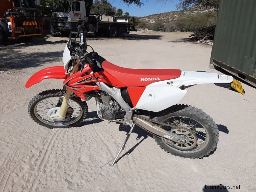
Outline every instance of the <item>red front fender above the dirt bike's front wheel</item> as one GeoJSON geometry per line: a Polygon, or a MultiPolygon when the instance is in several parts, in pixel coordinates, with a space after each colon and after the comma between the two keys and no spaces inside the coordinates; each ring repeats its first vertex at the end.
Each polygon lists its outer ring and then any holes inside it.
{"type": "Polygon", "coordinates": [[[65,72],[66,70],[63,66],[55,66],[42,69],[40,71],[37,71],[28,79],[25,87],[31,87],[32,85],[37,84],[44,79],[65,79],[65,72]]]}

